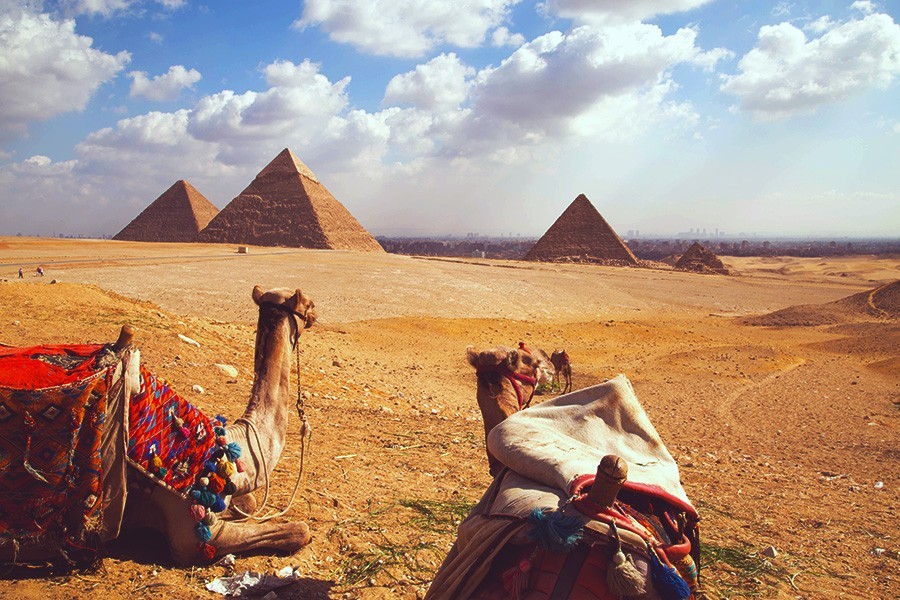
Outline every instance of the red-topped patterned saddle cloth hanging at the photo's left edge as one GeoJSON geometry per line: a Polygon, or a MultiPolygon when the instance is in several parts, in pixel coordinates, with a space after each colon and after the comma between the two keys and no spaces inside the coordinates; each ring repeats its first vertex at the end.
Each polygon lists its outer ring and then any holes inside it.
{"type": "Polygon", "coordinates": [[[0,539],[90,528],[118,360],[100,345],[0,347],[0,539]]]}

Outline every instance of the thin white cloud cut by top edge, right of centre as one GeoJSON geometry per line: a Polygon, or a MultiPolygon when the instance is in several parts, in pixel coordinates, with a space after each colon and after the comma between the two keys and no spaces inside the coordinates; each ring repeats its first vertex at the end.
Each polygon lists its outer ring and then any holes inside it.
{"type": "Polygon", "coordinates": [[[576,21],[639,21],[699,8],[712,0],[547,0],[542,9],[576,21]]]}

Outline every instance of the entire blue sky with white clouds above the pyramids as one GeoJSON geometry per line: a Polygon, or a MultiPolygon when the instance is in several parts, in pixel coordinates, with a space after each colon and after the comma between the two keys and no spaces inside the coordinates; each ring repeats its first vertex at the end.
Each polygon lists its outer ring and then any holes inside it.
{"type": "Polygon", "coordinates": [[[0,235],[223,208],[290,148],[374,235],[900,237],[900,1],[0,0],[0,235]]]}

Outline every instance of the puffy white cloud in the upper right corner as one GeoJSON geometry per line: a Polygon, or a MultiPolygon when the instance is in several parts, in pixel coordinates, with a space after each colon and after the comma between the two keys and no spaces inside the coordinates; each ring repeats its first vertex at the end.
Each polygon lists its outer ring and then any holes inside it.
{"type": "Polygon", "coordinates": [[[721,89],[738,96],[743,110],[763,119],[813,111],[893,83],[900,75],[900,26],[874,14],[814,39],[790,23],[765,26],[738,69],[721,89]]]}

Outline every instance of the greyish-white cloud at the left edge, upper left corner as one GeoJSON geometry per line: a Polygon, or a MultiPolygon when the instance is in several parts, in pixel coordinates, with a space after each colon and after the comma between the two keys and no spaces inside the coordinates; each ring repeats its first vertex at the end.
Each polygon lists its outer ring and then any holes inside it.
{"type": "Polygon", "coordinates": [[[8,10],[0,14],[0,139],[28,124],[82,110],[94,92],[131,60],[92,47],[73,20],[8,10]]]}

